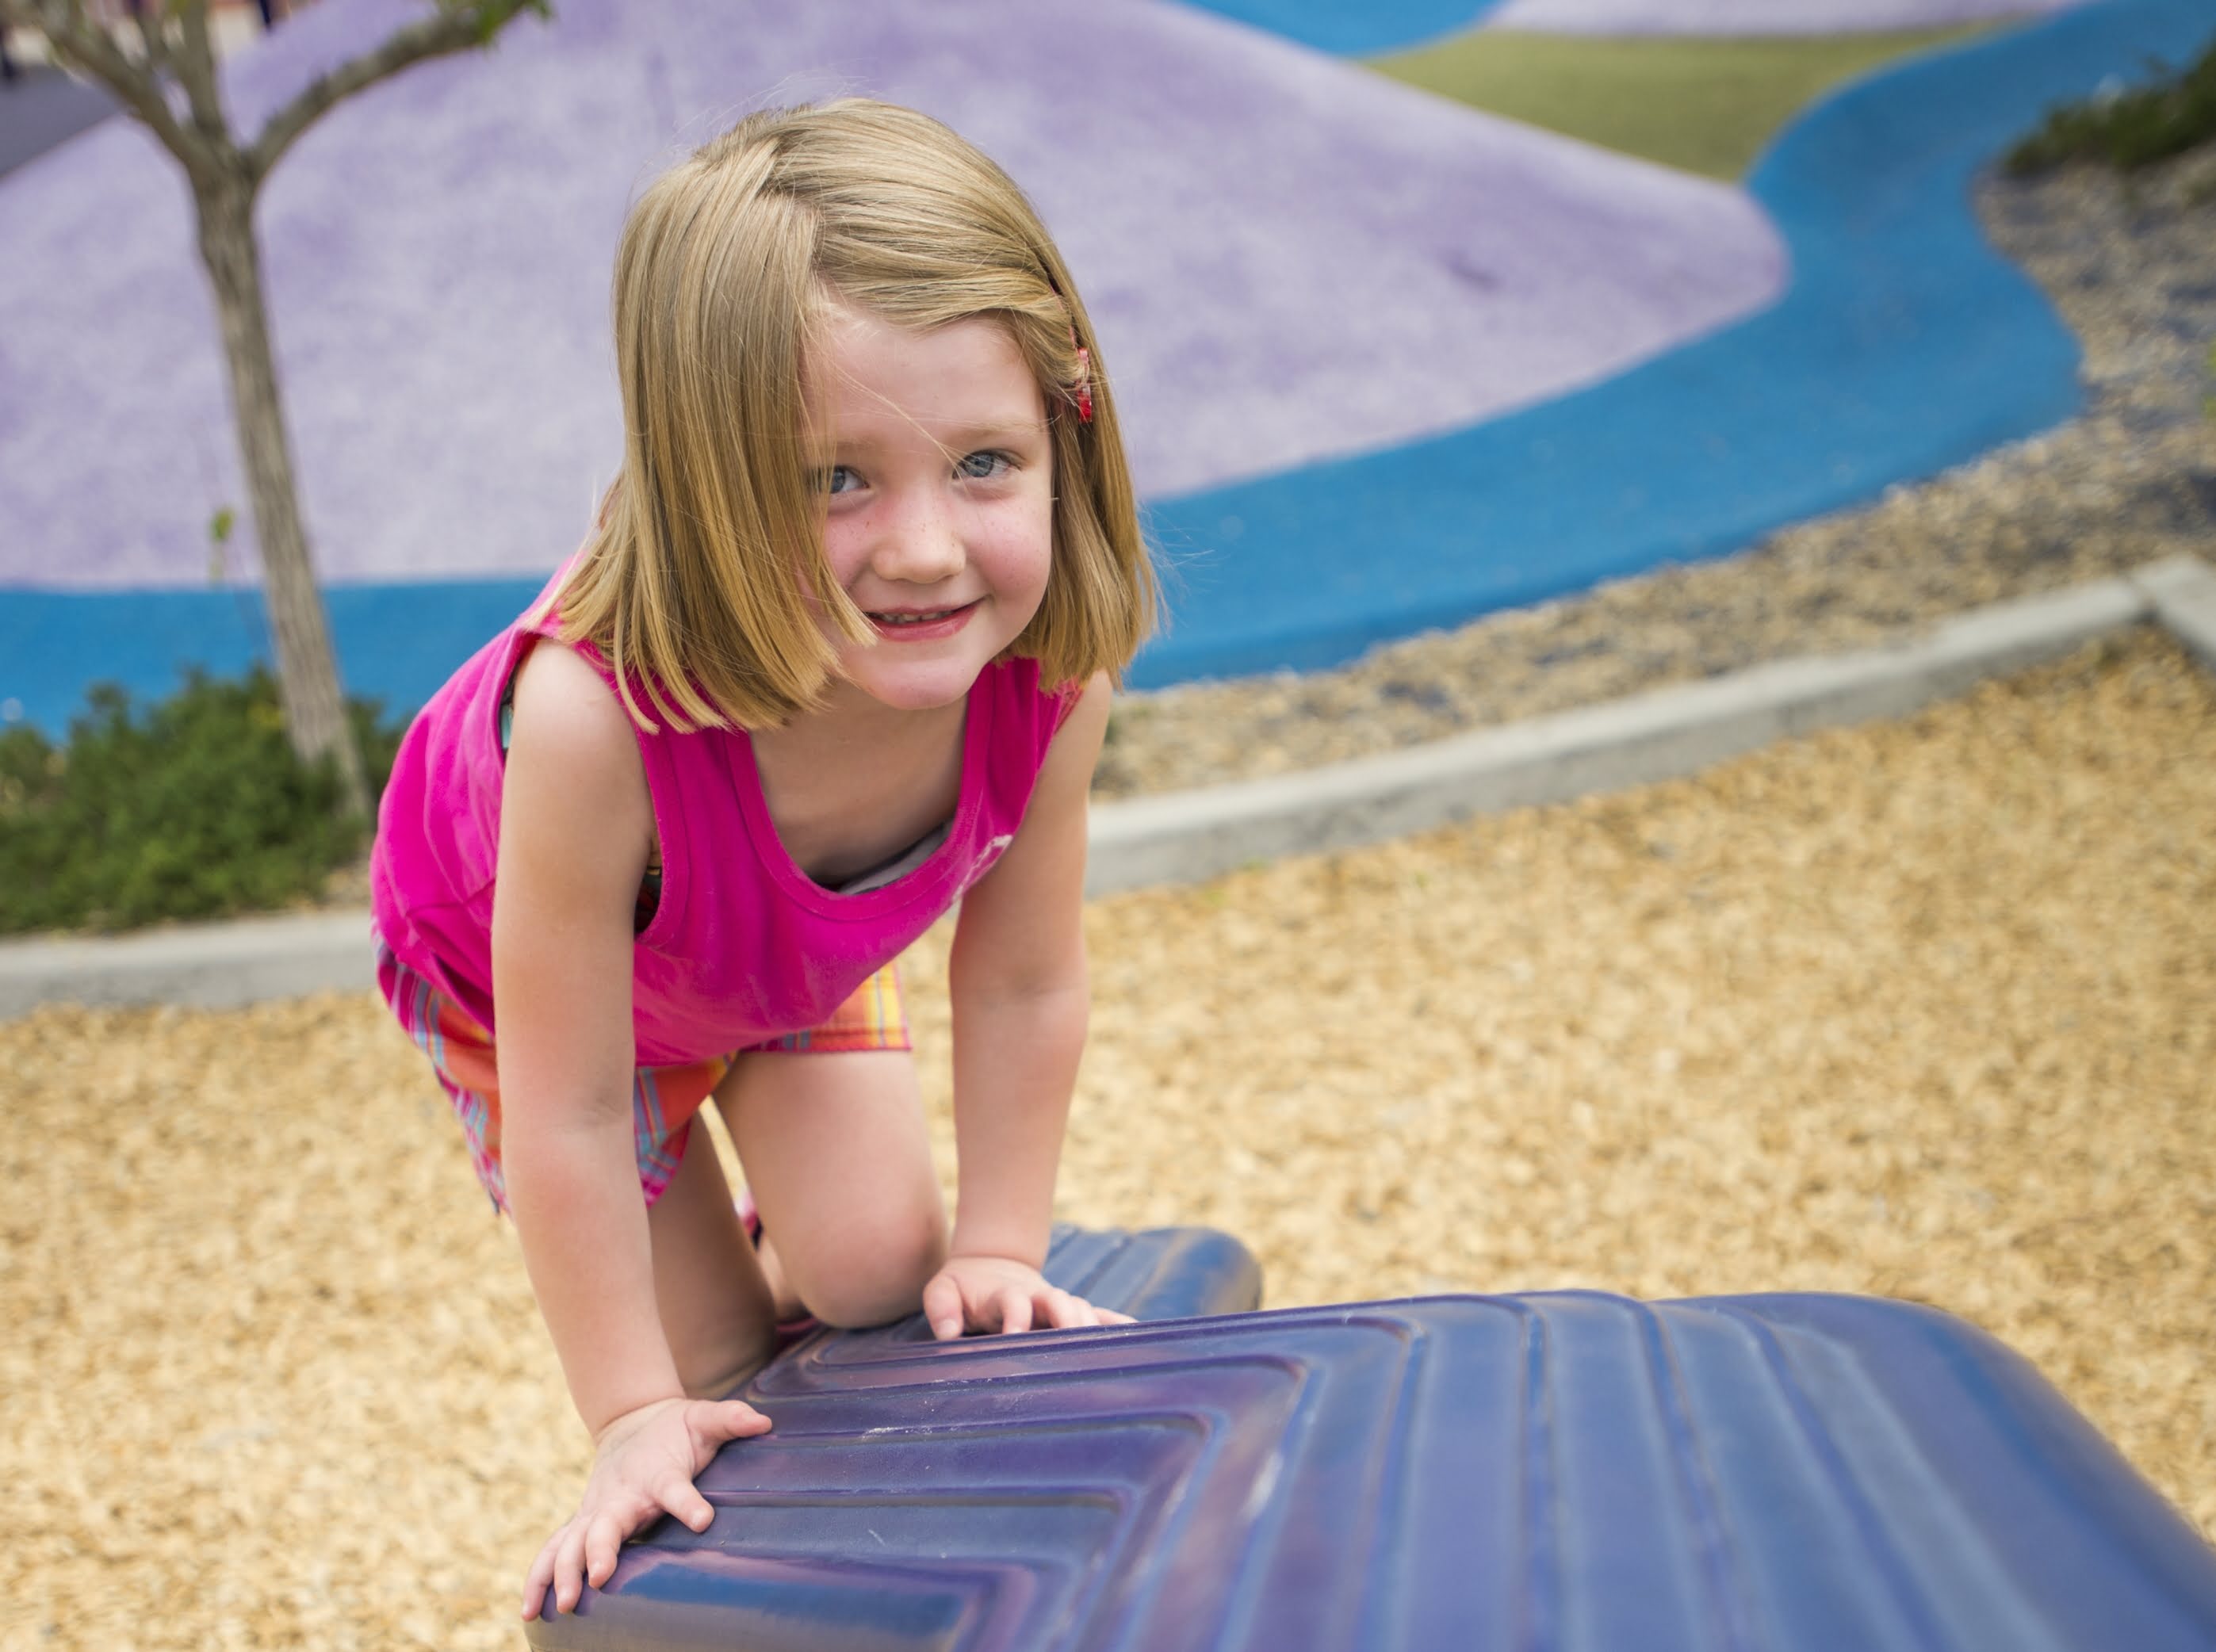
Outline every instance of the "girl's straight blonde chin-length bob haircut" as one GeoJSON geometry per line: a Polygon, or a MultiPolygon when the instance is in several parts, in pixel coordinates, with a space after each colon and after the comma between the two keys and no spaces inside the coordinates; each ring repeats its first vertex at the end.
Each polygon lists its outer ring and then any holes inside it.
{"type": "Polygon", "coordinates": [[[654,733],[776,726],[869,620],[822,549],[802,370],[831,299],[915,330],[988,317],[1039,383],[1055,456],[1046,598],[1002,658],[1121,678],[1155,620],[1115,399],[1030,202],[929,115],[838,100],[749,115],[663,173],[616,250],[623,469],[554,593],[654,733]],[[1090,350],[1092,421],[1077,416],[1090,350]],[[811,607],[813,600],[813,607],[811,607]]]}

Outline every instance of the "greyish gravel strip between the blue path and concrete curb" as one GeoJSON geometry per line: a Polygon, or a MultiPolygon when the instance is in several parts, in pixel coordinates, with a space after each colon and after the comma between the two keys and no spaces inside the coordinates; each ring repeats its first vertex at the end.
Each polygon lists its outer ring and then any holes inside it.
{"type": "Polygon", "coordinates": [[[2216,554],[2216,151],[2118,184],[1990,179],[1992,241],[2085,350],[2087,412],[1884,500],[1343,671],[1126,695],[1097,795],[1312,768],[1764,660],[1870,647],[1948,613],[2216,554]]]}

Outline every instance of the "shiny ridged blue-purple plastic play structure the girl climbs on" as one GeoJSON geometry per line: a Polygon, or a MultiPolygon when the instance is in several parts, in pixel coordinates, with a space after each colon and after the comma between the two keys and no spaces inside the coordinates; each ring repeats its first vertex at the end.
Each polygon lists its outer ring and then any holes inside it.
{"type": "MultiPolygon", "coordinates": [[[[1141,1315],[1214,1233],[1066,1236],[1141,1315]]],[[[705,1535],[538,1648],[2216,1648],[2209,1550],[2017,1355],[1859,1298],[1429,1298],[931,1344],[824,1335],[705,1535]]]]}

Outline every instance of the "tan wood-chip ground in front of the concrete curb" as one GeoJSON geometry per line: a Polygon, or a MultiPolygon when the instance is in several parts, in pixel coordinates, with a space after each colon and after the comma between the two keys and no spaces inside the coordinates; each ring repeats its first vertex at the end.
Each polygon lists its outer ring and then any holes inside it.
{"type": "MultiPolygon", "coordinates": [[[[1088,910],[1061,1214],[1274,1307],[1966,1313],[2216,1535],[2216,678],[2158,633],[1693,779],[1088,910]]],[[[946,937],[911,957],[948,1147],[946,937]]],[[[516,1645],[585,1470],[361,997],[0,1023],[0,1648],[516,1645]]]]}

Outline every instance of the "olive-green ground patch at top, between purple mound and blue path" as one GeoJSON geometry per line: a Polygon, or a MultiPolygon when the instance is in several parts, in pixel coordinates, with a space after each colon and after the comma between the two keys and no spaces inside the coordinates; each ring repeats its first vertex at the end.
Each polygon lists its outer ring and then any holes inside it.
{"type": "Polygon", "coordinates": [[[1760,40],[1474,29],[1369,66],[1491,115],[1740,179],[1786,122],[1839,82],[1990,27],[1760,40]]]}

